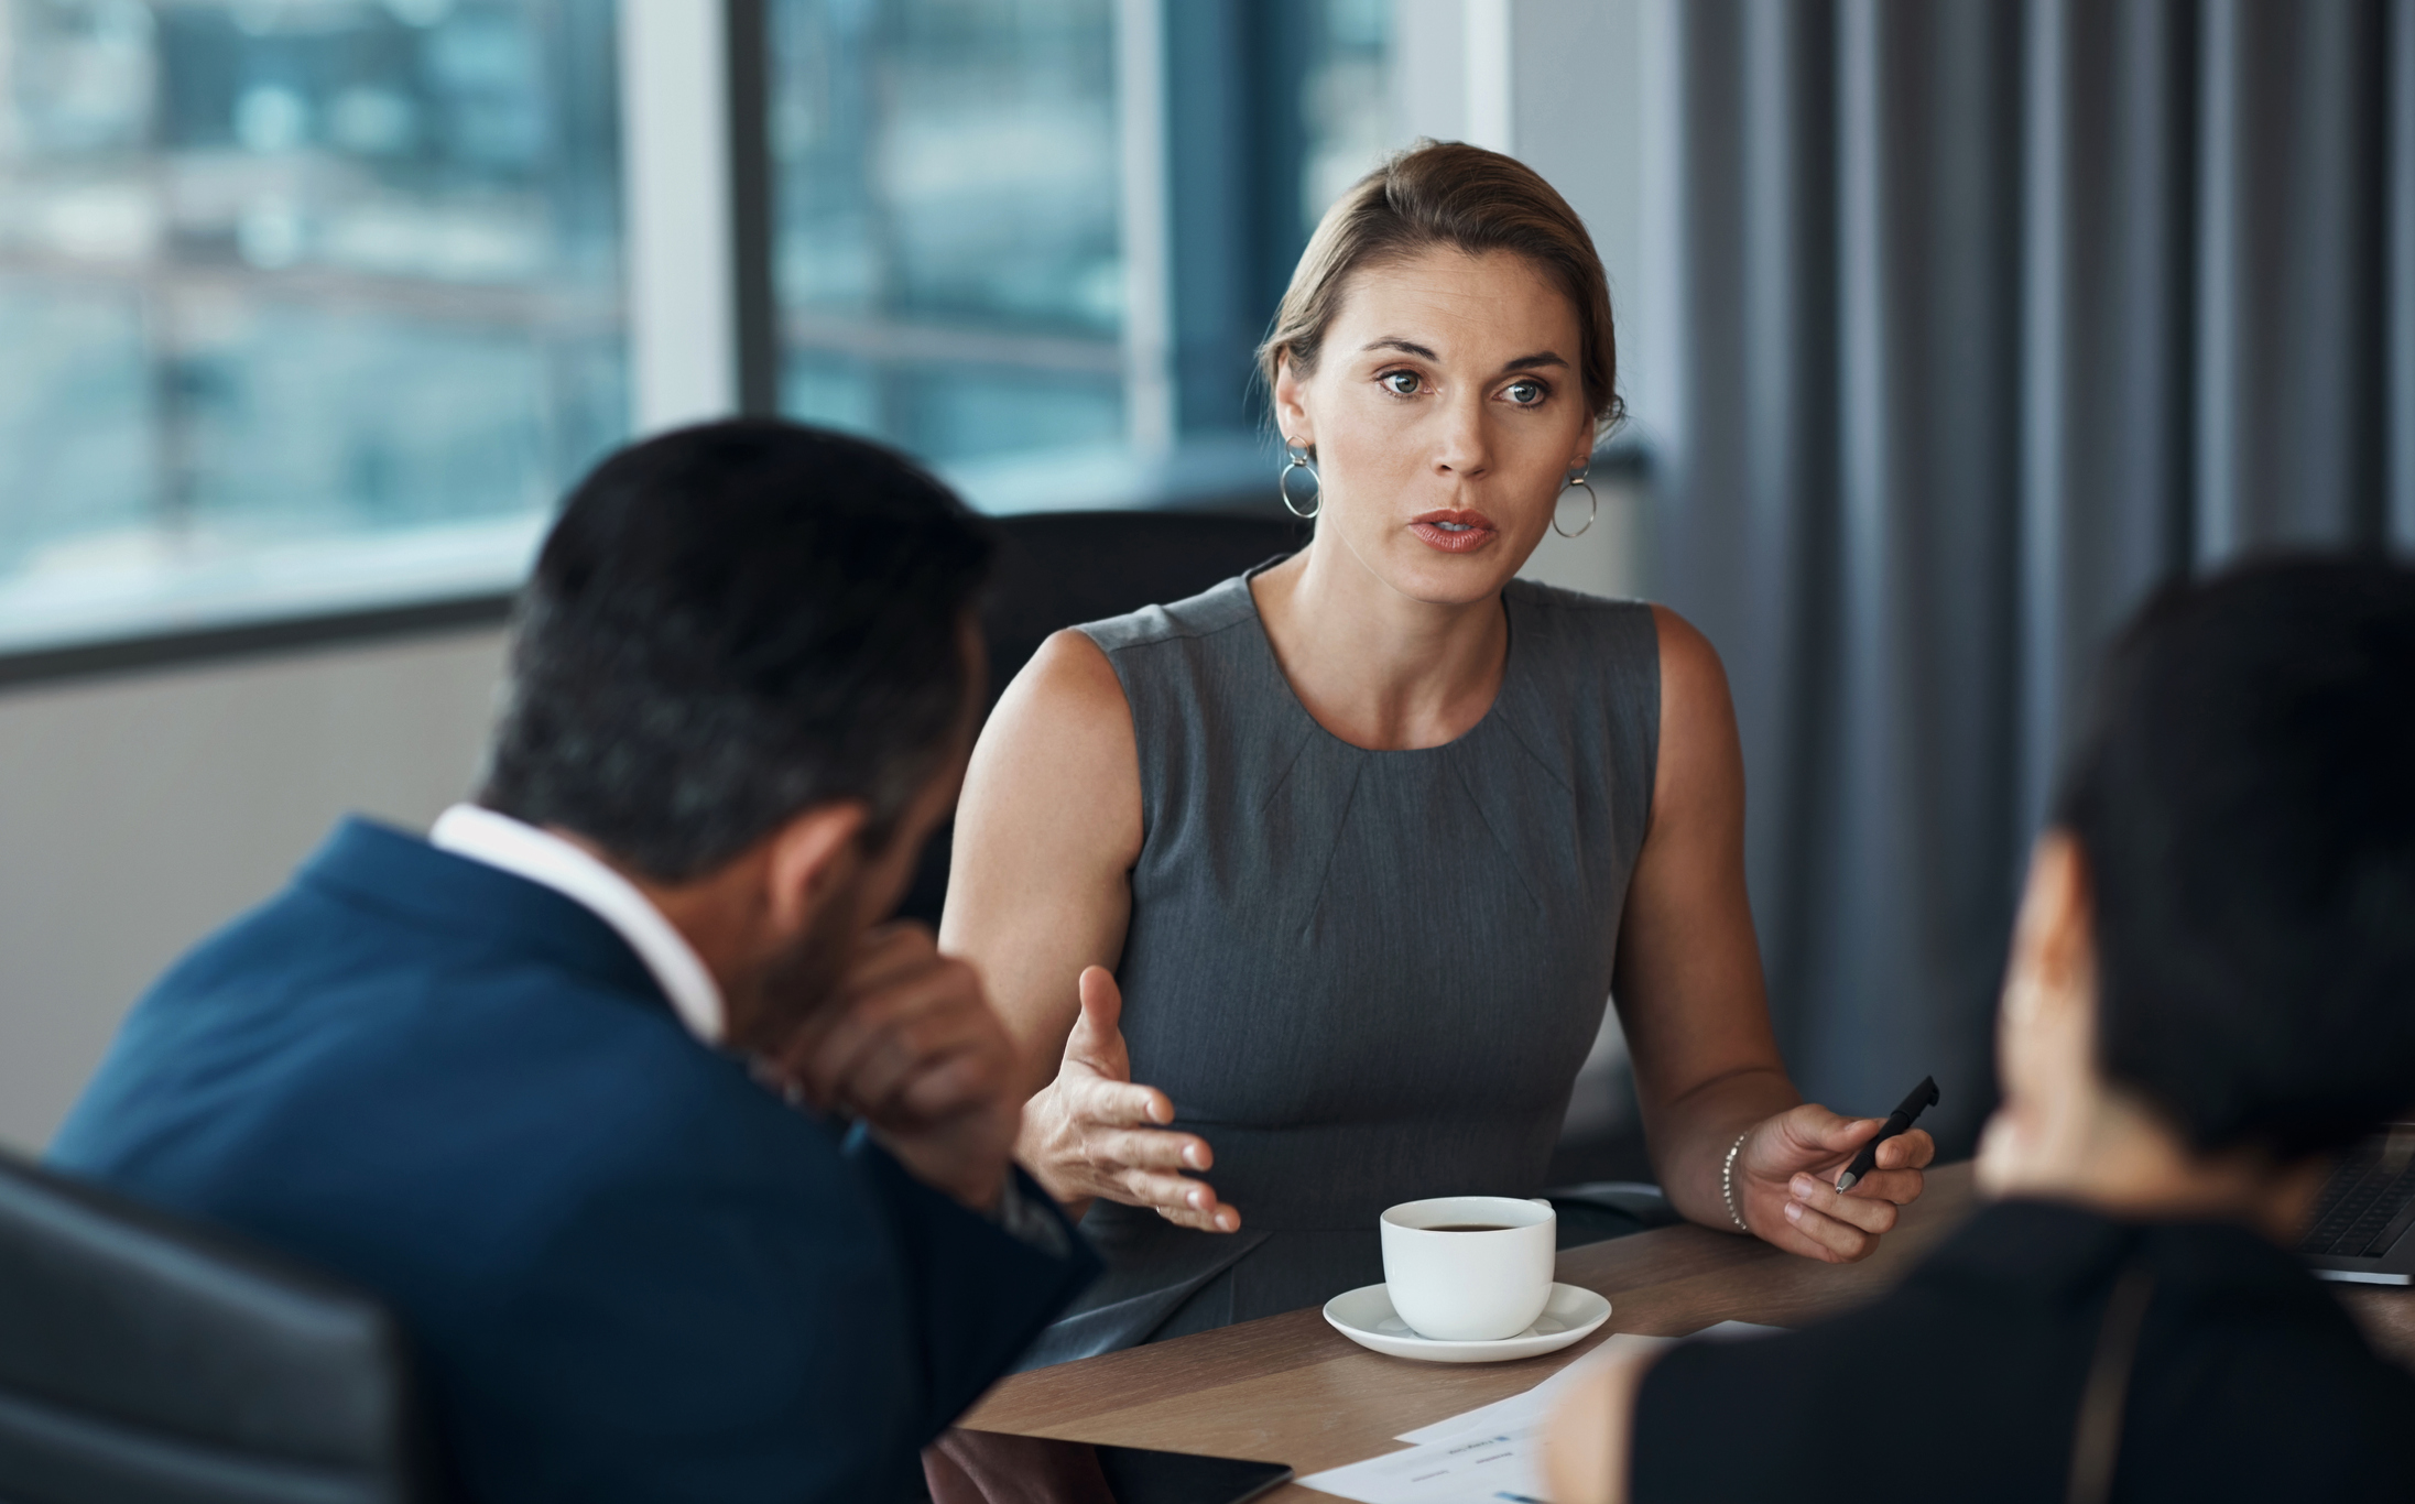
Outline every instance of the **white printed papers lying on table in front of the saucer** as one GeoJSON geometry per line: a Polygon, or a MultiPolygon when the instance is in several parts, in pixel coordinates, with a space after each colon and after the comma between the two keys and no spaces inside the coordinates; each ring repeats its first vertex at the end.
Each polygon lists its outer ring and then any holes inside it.
{"type": "MultiPolygon", "coordinates": [[[[1722,1321],[1695,1337],[1727,1342],[1775,1330],[1780,1328],[1722,1321]]],[[[1548,1504],[1543,1427],[1560,1393],[1604,1362],[1637,1357],[1669,1342],[1674,1337],[1616,1333],[1582,1362],[1524,1393],[1406,1432],[1401,1441],[1413,1444],[1408,1451],[1311,1473],[1299,1482],[1360,1504],[1548,1504]]]]}

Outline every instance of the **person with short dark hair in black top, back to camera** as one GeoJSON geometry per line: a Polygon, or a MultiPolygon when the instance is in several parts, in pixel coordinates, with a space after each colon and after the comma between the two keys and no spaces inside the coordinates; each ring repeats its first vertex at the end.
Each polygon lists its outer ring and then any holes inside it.
{"type": "Polygon", "coordinates": [[[1995,1205],[1852,1316],[1594,1374],[1553,1499],[2408,1497],[2415,1374],[2287,1248],[2415,1103],[2410,773],[2415,572],[2152,601],[2031,857],[1995,1205]]]}

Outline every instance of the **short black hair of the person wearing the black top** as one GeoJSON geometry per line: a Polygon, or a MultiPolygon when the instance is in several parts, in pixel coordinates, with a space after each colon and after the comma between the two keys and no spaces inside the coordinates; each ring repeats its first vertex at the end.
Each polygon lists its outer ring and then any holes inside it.
{"type": "Polygon", "coordinates": [[[2058,823],[2094,891],[2099,1065],[2195,1149],[2299,1159],[2415,1103],[2415,572],[2161,591],[2058,823]]]}

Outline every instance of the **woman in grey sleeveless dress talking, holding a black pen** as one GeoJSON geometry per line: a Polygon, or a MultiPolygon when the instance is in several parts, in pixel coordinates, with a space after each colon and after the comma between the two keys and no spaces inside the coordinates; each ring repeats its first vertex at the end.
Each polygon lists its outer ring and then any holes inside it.
{"type": "Polygon", "coordinates": [[[1932,1144],[1828,1185],[1876,1123],[1777,1057],[1717,654],[1514,579],[1618,413],[1584,225],[1509,157],[1406,152],[1319,225],[1263,365],[1314,541],[1058,633],[956,816],[942,949],[1108,1263],[1034,1359],[1377,1282],[1401,1200],[1531,1195],[1611,995],[1669,1200],[1869,1253],[1932,1144]]]}

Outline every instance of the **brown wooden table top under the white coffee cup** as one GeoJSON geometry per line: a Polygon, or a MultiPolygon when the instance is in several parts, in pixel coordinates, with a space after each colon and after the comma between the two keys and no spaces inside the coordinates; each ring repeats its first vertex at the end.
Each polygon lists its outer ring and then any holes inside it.
{"type": "MultiPolygon", "coordinates": [[[[1420,1364],[1357,1347],[1321,1311],[1017,1374],[959,1424],[1019,1436],[1290,1463],[1302,1475],[1398,1451],[1401,1432],[1534,1388],[1608,1333],[1683,1335],[1717,1321],[1799,1325],[1886,1289],[1971,1212],[1971,1166],[1930,1171],[1879,1253],[1823,1265],[1700,1226],[1570,1248],[1558,1277],[1611,1299],[1601,1333],[1514,1364],[1420,1364]]],[[[2415,1296],[2343,1292],[2374,1345],[2415,1366],[2415,1296]]],[[[1268,1494],[1309,1504],[1290,1485],[1268,1494]]]]}

